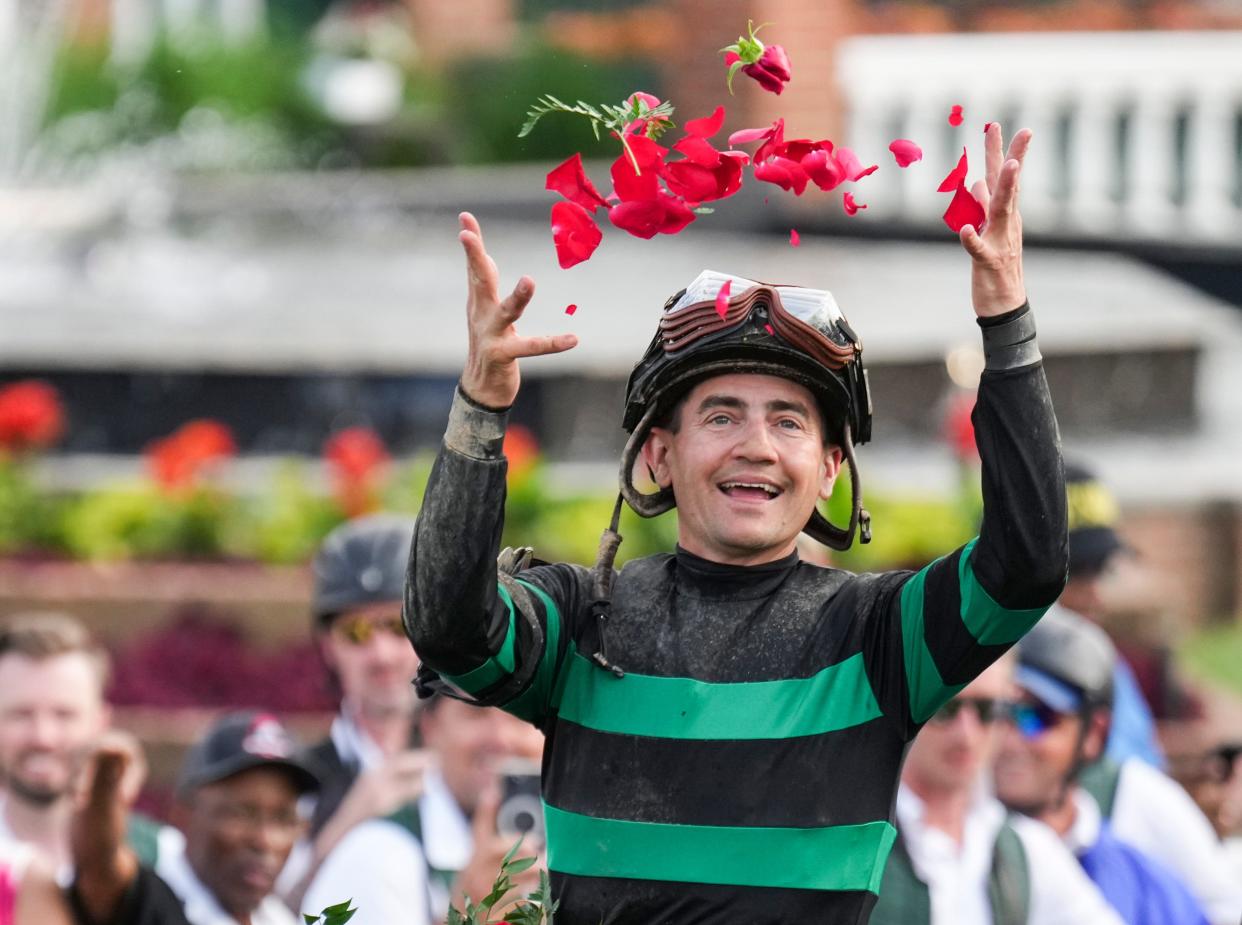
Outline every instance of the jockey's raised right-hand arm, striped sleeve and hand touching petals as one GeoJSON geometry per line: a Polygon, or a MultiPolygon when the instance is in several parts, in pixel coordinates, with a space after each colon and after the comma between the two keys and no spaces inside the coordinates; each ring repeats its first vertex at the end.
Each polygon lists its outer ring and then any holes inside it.
{"type": "Polygon", "coordinates": [[[1035,315],[1022,279],[1017,186],[1031,133],[1002,155],[987,129],[987,178],[974,195],[987,220],[961,230],[986,366],[972,421],[982,466],[977,539],[915,572],[897,593],[910,729],[1017,642],[1066,582],[1061,438],[1035,315]]]}

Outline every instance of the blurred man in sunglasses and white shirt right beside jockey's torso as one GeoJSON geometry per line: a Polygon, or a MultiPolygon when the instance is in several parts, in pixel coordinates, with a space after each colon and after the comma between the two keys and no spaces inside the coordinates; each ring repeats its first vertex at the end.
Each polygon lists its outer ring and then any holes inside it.
{"type": "Polygon", "coordinates": [[[897,792],[897,843],[871,925],[1120,923],[1046,826],[1007,813],[986,776],[1009,721],[1002,656],[919,731],[897,792]]]}

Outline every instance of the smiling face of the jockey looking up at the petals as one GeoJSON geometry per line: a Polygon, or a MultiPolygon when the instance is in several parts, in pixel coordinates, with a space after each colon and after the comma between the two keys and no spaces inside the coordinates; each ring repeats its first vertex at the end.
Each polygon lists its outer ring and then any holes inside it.
{"type": "Polygon", "coordinates": [[[729,565],[792,553],[841,469],[810,390],[779,376],[715,376],[676,417],[652,428],[642,456],[656,482],[673,487],[682,548],[729,565]]]}

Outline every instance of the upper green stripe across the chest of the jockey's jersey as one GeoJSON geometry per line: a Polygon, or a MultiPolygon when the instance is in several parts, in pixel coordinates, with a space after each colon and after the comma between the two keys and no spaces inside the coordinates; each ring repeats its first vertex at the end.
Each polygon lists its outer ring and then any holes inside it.
{"type": "Polygon", "coordinates": [[[862,653],[810,678],[709,683],[626,672],[617,678],[574,654],[560,718],[601,733],[652,739],[792,739],[882,715],[862,653]]]}

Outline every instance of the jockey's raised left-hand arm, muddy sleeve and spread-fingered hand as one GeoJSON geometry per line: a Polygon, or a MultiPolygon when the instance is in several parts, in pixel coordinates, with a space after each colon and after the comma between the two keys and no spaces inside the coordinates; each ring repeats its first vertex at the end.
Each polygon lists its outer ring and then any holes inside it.
{"type": "MultiPolygon", "coordinates": [[[[518,395],[518,360],[569,350],[571,334],[523,336],[514,327],[534,293],[522,277],[499,294],[496,262],[474,217],[461,215],[469,354],[448,428],[424,494],[410,549],[404,621],[426,664],[467,693],[505,703],[530,688],[559,622],[543,591],[505,579],[496,555],[504,521],[505,412],[518,395]]],[[[548,672],[544,672],[546,677],[548,672]]],[[[528,719],[537,719],[528,711],[528,719]]]]}

